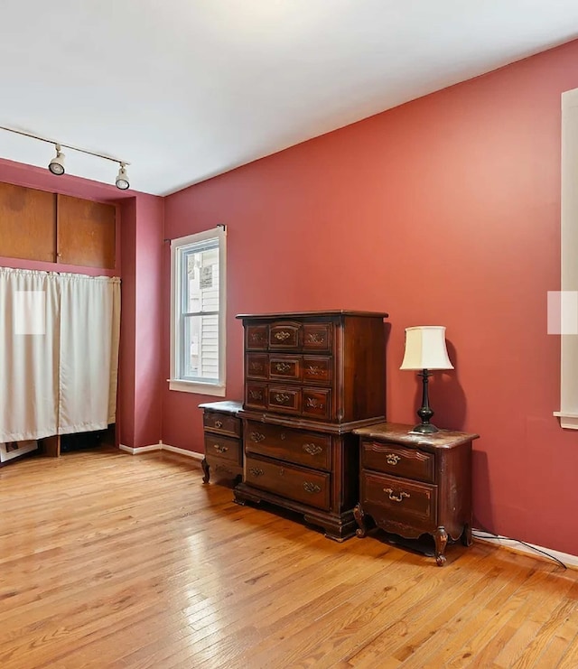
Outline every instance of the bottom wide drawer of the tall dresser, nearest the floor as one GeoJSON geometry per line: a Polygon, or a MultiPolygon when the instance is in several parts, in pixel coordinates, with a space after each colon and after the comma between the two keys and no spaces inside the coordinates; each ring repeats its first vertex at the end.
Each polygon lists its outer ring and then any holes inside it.
{"type": "Polygon", "coordinates": [[[330,508],[331,477],[321,471],[246,455],[244,480],[251,486],[307,506],[330,508]]]}

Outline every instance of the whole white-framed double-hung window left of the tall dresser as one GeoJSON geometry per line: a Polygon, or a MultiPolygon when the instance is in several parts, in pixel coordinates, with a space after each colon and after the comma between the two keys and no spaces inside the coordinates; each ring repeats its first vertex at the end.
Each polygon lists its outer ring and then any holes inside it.
{"type": "Polygon", "coordinates": [[[171,242],[171,390],[225,395],[225,226],[171,242]]]}

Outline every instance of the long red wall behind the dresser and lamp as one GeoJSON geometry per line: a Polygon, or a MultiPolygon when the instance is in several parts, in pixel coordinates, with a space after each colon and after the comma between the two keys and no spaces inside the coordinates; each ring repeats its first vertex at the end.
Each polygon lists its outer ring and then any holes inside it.
{"type": "MultiPolygon", "coordinates": [[[[414,423],[404,330],[445,325],[455,371],[433,380],[434,423],[480,433],[474,525],[578,554],[578,434],[552,415],[559,339],[546,334],[560,95],[577,87],[571,42],[167,198],[165,237],[228,226],[228,399],[242,396],[236,313],[384,310],[387,416],[414,423]]],[[[163,441],[201,451],[196,406],[210,399],[165,390],[163,441]]]]}

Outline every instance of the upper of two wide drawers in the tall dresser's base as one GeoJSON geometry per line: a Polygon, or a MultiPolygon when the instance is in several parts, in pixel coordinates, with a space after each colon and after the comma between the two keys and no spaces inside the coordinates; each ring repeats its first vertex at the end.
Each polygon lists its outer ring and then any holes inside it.
{"type": "Polygon", "coordinates": [[[247,421],[245,451],[314,469],[331,469],[331,436],[247,421]]]}

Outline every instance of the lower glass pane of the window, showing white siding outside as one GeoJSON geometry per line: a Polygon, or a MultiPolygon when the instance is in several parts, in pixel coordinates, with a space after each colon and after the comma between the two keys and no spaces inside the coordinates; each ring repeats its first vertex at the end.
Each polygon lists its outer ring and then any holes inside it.
{"type": "Polygon", "coordinates": [[[185,316],[182,376],[201,381],[219,379],[219,315],[185,316]]]}

